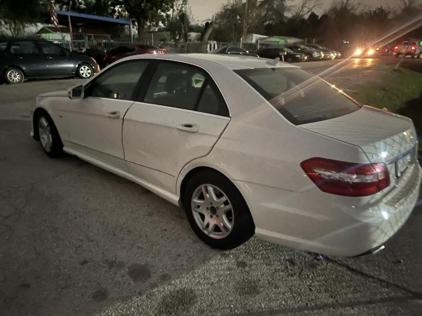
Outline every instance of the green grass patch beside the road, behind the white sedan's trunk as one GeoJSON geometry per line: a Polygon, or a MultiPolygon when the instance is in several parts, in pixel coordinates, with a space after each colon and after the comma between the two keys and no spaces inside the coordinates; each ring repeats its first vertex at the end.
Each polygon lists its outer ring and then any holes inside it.
{"type": "MultiPolygon", "coordinates": [[[[391,112],[400,112],[406,102],[418,99],[422,93],[422,74],[408,69],[394,70],[386,66],[377,70],[376,82],[354,86],[348,94],[363,104],[391,112]]],[[[421,104],[422,107],[422,104],[421,104]]]]}

